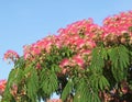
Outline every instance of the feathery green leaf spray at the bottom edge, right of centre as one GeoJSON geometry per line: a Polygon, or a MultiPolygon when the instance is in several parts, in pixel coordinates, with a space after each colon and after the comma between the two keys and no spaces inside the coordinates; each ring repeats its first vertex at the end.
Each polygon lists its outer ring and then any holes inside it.
{"type": "Polygon", "coordinates": [[[90,82],[85,79],[80,79],[77,84],[77,89],[74,97],[74,102],[101,102],[98,97],[98,91],[92,90],[90,82]]]}

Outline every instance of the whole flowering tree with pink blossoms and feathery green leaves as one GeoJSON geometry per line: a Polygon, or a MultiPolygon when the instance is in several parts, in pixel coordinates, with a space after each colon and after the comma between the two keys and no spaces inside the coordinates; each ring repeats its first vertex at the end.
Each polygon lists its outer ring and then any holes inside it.
{"type": "Polygon", "coordinates": [[[132,11],[92,19],[59,29],[34,44],[23,56],[4,54],[10,71],[2,102],[130,102],[132,95],[132,11]],[[117,101],[118,100],[118,101],[117,101]]]}

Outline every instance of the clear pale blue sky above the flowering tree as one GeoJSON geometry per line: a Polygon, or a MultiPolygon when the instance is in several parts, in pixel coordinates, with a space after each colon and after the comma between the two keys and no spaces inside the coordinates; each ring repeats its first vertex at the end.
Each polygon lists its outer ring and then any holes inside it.
{"type": "Polygon", "coordinates": [[[75,21],[92,18],[101,24],[108,15],[129,10],[132,0],[0,0],[0,79],[12,68],[2,60],[8,49],[22,55],[23,45],[75,21]]]}

